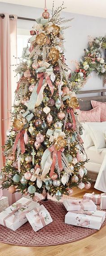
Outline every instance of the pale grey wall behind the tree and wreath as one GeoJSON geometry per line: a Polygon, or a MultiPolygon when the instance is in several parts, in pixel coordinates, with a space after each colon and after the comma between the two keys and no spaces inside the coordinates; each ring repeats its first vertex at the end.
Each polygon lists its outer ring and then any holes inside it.
{"type": "MultiPolygon", "coordinates": [[[[0,2],[0,13],[17,14],[18,16],[36,19],[40,17],[43,9],[12,5],[0,2]]],[[[88,35],[94,37],[104,36],[106,33],[106,19],[81,14],[62,13],[66,19],[74,18],[71,28],[65,30],[65,56],[67,64],[73,68],[72,60],[80,61],[84,54],[84,48],[88,44],[88,35]]],[[[18,20],[18,28],[31,29],[33,22],[18,20]]],[[[84,90],[102,88],[102,80],[96,74],[92,74],[88,79],[84,90]]]]}

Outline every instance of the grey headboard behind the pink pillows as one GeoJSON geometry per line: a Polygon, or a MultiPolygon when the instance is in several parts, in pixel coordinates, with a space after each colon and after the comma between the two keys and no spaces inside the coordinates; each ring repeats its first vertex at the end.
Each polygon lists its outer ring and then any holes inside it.
{"type": "Polygon", "coordinates": [[[77,94],[77,97],[79,99],[79,103],[80,103],[80,110],[90,110],[92,109],[92,105],[91,105],[91,100],[96,100],[96,101],[100,101],[100,102],[106,102],[106,89],[101,89],[101,90],[90,90],[90,91],[80,91],[77,94]],[[92,96],[92,97],[80,97],[80,94],[97,94],[97,96],[92,96]]]}

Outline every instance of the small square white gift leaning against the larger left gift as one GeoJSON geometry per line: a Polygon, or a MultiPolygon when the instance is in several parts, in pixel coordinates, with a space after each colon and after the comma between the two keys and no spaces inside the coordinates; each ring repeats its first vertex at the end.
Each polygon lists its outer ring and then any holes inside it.
{"type": "Polygon", "coordinates": [[[27,213],[26,217],[35,232],[53,222],[49,212],[44,207],[44,205],[36,207],[27,213]]]}

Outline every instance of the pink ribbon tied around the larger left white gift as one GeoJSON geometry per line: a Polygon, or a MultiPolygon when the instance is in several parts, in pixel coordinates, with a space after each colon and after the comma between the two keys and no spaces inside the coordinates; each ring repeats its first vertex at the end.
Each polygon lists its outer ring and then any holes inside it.
{"type": "MultiPolygon", "coordinates": [[[[24,205],[22,205],[22,203],[16,204],[16,209],[14,209],[11,213],[8,214],[8,216],[6,216],[6,217],[3,219],[4,226],[7,227],[7,226],[6,226],[6,219],[9,219],[9,217],[11,217],[11,216],[14,215],[16,212],[18,212],[22,207],[25,207],[26,205],[29,205],[30,203],[31,203],[31,201],[28,201],[28,202],[27,202],[26,204],[24,204],[24,205]]],[[[28,213],[28,212],[29,212],[29,210],[24,211],[24,212],[21,212],[21,213],[19,214],[19,217],[20,217],[21,215],[23,215],[23,219],[24,219],[24,218],[25,218],[25,214],[28,213]],[[23,214],[23,213],[24,213],[24,214],[23,214]]],[[[14,218],[13,218],[13,220],[12,220],[12,224],[14,223],[15,219],[16,219],[16,216],[14,216],[14,218]]]]}

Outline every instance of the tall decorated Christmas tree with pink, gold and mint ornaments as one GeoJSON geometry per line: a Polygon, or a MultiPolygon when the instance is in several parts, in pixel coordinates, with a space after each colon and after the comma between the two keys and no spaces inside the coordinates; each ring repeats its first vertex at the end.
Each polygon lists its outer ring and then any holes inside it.
{"type": "Polygon", "coordinates": [[[63,4],[44,13],[31,30],[30,47],[23,49],[16,69],[20,75],[11,129],[4,146],[6,163],[0,173],[3,188],[30,194],[35,191],[72,195],[72,188],[91,186],[78,121],[79,102],[71,88],[64,56],[63,4]]]}

